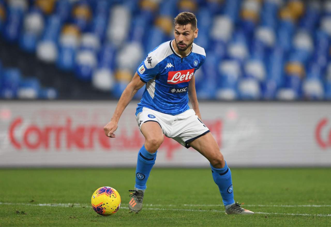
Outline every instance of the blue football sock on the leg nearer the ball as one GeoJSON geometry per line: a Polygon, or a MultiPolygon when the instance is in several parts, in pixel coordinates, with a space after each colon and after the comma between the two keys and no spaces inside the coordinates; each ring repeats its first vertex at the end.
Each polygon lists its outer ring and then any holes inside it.
{"type": "Polygon", "coordinates": [[[156,160],[156,151],[154,154],[149,153],[145,145],[138,152],[137,168],[136,168],[136,184],[135,189],[145,190],[146,182],[156,160]]]}

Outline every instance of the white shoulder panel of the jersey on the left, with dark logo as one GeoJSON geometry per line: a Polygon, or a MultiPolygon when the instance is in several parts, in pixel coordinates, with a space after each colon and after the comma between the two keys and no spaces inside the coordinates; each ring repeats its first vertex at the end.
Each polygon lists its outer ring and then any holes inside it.
{"type": "Polygon", "coordinates": [[[170,49],[170,41],[166,41],[150,52],[144,63],[146,68],[154,68],[159,62],[163,61],[167,56],[172,54],[170,49]]]}

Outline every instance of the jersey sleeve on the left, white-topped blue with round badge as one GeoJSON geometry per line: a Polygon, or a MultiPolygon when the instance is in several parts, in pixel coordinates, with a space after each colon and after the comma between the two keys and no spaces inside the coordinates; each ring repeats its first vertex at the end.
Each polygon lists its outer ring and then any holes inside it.
{"type": "Polygon", "coordinates": [[[159,73],[158,59],[153,52],[150,52],[146,59],[141,62],[137,69],[140,80],[147,83],[159,73]]]}

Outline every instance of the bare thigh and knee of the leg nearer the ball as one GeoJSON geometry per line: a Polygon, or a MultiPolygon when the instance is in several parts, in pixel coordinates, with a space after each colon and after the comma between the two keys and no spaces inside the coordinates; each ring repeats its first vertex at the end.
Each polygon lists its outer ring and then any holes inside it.
{"type": "Polygon", "coordinates": [[[161,126],[156,121],[147,121],[144,122],[140,127],[141,132],[143,133],[146,141],[151,143],[161,143],[164,140],[163,131],[161,126]]]}

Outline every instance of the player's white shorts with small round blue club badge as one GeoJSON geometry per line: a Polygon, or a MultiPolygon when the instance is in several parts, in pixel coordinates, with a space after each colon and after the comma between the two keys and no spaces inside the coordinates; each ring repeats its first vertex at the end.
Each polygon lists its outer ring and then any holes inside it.
{"type": "Polygon", "coordinates": [[[181,145],[189,148],[189,142],[209,132],[208,127],[190,109],[177,115],[169,115],[143,107],[136,116],[139,129],[148,121],[158,122],[166,137],[173,138],[181,145]]]}

